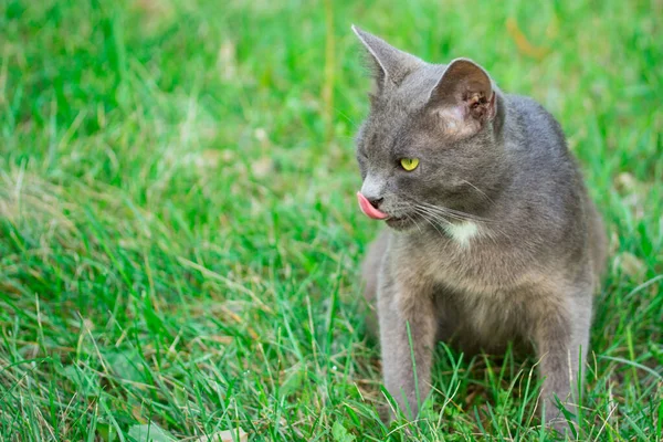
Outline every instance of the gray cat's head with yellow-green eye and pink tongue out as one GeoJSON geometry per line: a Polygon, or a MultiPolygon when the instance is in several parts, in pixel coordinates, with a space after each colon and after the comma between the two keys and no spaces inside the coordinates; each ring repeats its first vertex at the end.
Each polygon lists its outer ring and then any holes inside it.
{"type": "Polygon", "coordinates": [[[504,151],[504,98],[486,71],[466,59],[429,64],[352,30],[373,77],[356,138],[364,212],[399,230],[443,209],[481,212],[499,187],[504,151]]]}

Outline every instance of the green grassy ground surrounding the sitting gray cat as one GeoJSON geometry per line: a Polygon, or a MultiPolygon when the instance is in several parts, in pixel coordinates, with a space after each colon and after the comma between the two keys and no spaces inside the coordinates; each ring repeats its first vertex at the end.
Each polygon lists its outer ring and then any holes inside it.
{"type": "Polygon", "coordinates": [[[663,438],[663,3],[411,3],[0,0],[0,439],[550,439],[532,360],[443,346],[377,419],[352,22],[560,119],[611,238],[580,439],[663,438]]]}

